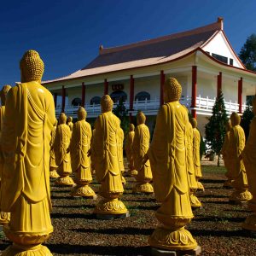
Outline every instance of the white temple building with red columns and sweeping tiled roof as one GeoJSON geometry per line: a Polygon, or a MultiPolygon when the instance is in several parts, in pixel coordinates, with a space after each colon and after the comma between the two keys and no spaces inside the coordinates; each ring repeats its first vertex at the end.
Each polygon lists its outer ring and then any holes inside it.
{"type": "Polygon", "coordinates": [[[242,113],[247,96],[255,94],[256,73],[236,55],[222,18],[187,32],[113,48],[101,46],[87,66],[43,84],[54,96],[56,115],[62,111],[75,117],[80,105],[94,119],[101,112],[102,95],[109,94],[115,104],[124,102],[131,119],[142,110],[152,127],[167,76],[182,84],[181,102],[196,117],[202,133],[220,90],[229,114],[242,113]]]}

